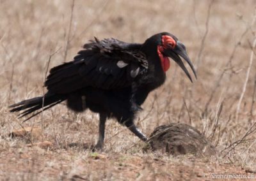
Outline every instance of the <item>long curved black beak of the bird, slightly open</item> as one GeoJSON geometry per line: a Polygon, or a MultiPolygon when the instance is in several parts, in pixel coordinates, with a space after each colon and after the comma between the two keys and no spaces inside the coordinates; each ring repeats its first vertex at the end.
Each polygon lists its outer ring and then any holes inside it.
{"type": "Polygon", "coordinates": [[[181,43],[178,40],[176,42],[176,47],[174,49],[168,48],[168,49],[164,50],[164,54],[167,55],[168,57],[171,57],[173,59],[173,61],[175,61],[180,66],[180,68],[183,69],[183,71],[188,76],[189,80],[191,82],[193,82],[192,78],[191,78],[191,76],[190,76],[190,74],[188,72],[188,69],[186,69],[186,67],[184,66],[182,60],[180,59],[180,57],[182,57],[186,62],[188,62],[190,68],[192,69],[192,71],[193,71],[193,73],[195,75],[195,78],[197,79],[195,68],[194,68],[193,64],[191,63],[191,61],[190,61],[190,59],[188,57],[188,54],[186,52],[186,47],[185,47],[185,45],[183,43],[181,43]]]}

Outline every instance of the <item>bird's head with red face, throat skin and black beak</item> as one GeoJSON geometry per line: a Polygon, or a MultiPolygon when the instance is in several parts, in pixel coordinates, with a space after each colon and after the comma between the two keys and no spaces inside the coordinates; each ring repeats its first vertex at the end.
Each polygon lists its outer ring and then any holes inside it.
{"type": "Polygon", "coordinates": [[[163,71],[167,71],[170,68],[170,60],[168,58],[170,57],[180,66],[180,68],[183,69],[189,80],[192,82],[192,78],[189,75],[188,69],[186,69],[182,59],[180,58],[182,57],[186,62],[188,62],[196,77],[195,68],[188,57],[185,45],[170,33],[159,33],[152,36],[151,38],[154,40],[154,42],[157,42],[157,54],[161,61],[163,71]]]}

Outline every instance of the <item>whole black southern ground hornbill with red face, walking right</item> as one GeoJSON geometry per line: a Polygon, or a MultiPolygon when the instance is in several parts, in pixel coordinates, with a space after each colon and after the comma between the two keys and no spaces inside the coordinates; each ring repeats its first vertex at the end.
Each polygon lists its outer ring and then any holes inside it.
{"type": "MultiPolygon", "coordinates": [[[[159,33],[145,43],[125,43],[113,38],[90,41],[78,52],[74,61],[51,69],[45,81],[48,92],[44,96],[11,105],[10,112],[24,117],[38,113],[67,100],[67,106],[75,112],[87,108],[99,113],[99,140],[96,148],[102,148],[106,119],[114,117],[127,126],[141,140],[147,137],[134,125],[134,117],[141,110],[150,91],[164,83],[171,57],[179,64],[188,78],[182,57],[193,70],[186,47],[170,33],[159,33]]],[[[26,120],[28,120],[26,119],[26,120]]]]}

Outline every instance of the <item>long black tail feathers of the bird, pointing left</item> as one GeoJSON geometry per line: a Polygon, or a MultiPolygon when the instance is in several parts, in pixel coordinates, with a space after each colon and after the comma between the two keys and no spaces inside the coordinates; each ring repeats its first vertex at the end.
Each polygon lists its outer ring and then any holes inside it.
{"type": "Polygon", "coordinates": [[[26,120],[29,120],[32,117],[38,115],[38,113],[41,113],[42,111],[47,110],[52,106],[58,105],[62,101],[65,101],[65,99],[67,99],[65,95],[50,94],[49,92],[47,92],[45,96],[27,99],[27,100],[21,101],[20,103],[11,105],[9,107],[12,108],[10,112],[20,112],[23,110],[23,112],[19,113],[19,118],[29,115],[43,108],[39,112],[36,112],[35,114],[31,115],[28,119],[26,119],[26,120]]]}

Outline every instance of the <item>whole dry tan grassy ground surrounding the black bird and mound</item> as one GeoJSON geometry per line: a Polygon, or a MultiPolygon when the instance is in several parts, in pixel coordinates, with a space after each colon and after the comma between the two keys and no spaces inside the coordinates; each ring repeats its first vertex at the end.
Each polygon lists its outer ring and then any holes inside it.
{"type": "Polygon", "coordinates": [[[0,179],[211,180],[211,173],[254,174],[254,58],[248,81],[246,73],[255,40],[256,1],[211,2],[76,0],[71,13],[72,1],[1,0],[0,179]],[[72,61],[93,36],[143,42],[162,31],[184,42],[198,80],[190,83],[173,62],[166,83],[150,94],[137,123],[147,135],[168,122],[191,124],[216,145],[218,158],[145,153],[144,143],[112,120],[104,152],[93,153],[83,145],[97,140],[95,113],[74,114],[62,104],[44,112],[43,121],[40,115],[20,125],[17,115],[8,112],[11,103],[42,95],[52,52],[60,49],[50,68],[72,61]],[[21,126],[42,126],[43,136],[40,131],[29,138],[8,136],[21,126]],[[26,145],[38,140],[53,145],[26,145]]]}

